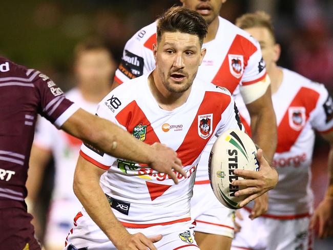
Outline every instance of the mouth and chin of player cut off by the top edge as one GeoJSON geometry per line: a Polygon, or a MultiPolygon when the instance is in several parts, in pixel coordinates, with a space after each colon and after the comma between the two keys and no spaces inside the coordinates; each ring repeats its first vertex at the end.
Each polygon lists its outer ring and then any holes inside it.
{"type": "Polygon", "coordinates": [[[197,11],[207,24],[211,24],[219,15],[221,6],[226,0],[180,0],[180,2],[189,9],[197,11]]]}

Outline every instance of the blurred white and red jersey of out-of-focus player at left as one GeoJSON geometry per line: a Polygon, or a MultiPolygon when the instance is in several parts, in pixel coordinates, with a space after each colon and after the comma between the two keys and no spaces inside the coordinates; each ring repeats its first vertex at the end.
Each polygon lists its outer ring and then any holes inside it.
{"type": "MultiPolygon", "coordinates": [[[[96,111],[98,103],[86,101],[78,89],[70,90],[66,96],[80,108],[92,114],[96,111]]],[[[33,143],[53,154],[55,179],[52,200],[72,200],[80,204],[73,192],[73,178],[82,141],[64,131],[57,130],[45,118],[40,118],[36,125],[33,143]]]]}

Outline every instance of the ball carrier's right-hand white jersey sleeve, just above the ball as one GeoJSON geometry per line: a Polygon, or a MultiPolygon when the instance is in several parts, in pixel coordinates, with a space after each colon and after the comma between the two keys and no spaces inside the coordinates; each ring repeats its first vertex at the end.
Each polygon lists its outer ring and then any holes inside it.
{"type": "Polygon", "coordinates": [[[218,130],[215,135],[218,137],[228,129],[239,129],[241,131],[245,131],[239,117],[235,100],[232,96],[229,105],[221,115],[221,121],[220,124],[218,124],[218,130]]]}

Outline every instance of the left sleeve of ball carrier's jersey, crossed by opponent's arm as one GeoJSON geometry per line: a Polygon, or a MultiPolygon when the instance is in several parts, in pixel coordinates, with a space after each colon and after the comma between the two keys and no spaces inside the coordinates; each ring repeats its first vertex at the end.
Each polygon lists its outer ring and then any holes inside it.
{"type": "MultiPolygon", "coordinates": [[[[108,95],[109,96],[109,95],[108,95]]],[[[107,108],[106,106],[106,100],[108,99],[108,96],[104,98],[97,107],[96,115],[107,119],[115,124],[117,124],[122,129],[126,130],[123,126],[119,124],[113,113],[107,108]],[[112,114],[111,114],[112,113],[112,114]]],[[[112,97],[113,98],[113,97],[112,97]]],[[[111,143],[111,142],[110,142],[111,143]]],[[[89,162],[93,163],[94,165],[98,166],[101,169],[108,170],[113,162],[116,161],[117,158],[110,156],[104,152],[101,152],[100,150],[94,148],[92,145],[88,143],[83,143],[80,150],[80,155],[88,160],[89,162]]]]}

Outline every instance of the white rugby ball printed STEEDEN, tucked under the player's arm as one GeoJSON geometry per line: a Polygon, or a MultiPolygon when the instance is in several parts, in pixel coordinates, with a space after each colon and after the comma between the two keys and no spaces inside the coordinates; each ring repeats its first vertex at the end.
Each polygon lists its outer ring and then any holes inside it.
{"type": "Polygon", "coordinates": [[[252,139],[236,129],[227,130],[215,141],[209,158],[209,177],[217,199],[230,209],[240,209],[239,203],[247,196],[236,197],[246,186],[233,186],[233,180],[242,180],[234,170],[259,170],[257,148],[252,139]]]}

